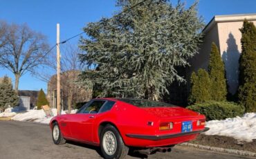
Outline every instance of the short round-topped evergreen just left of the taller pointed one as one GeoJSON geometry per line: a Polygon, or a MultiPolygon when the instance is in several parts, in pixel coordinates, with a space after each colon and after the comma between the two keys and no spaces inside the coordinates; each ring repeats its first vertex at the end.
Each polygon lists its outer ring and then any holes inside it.
{"type": "Polygon", "coordinates": [[[193,72],[190,82],[191,90],[188,98],[189,104],[208,102],[209,100],[212,100],[210,95],[211,82],[207,71],[200,68],[197,75],[193,72]]]}

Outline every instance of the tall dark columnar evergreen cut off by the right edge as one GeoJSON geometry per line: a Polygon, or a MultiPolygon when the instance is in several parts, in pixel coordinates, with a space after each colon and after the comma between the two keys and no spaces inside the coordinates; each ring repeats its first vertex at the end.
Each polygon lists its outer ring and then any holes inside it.
{"type": "Polygon", "coordinates": [[[245,20],[240,31],[239,102],[246,112],[256,112],[256,28],[253,22],[245,20]]]}

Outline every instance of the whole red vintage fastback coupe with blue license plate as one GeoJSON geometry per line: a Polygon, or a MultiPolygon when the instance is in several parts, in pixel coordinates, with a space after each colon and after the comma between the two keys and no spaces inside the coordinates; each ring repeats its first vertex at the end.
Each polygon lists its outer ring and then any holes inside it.
{"type": "Polygon", "coordinates": [[[125,158],[129,148],[142,153],[171,151],[175,144],[208,131],[205,116],[164,102],[101,98],[75,114],[57,115],[50,124],[53,142],[75,140],[100,146],[104,158],[125,158]]]}

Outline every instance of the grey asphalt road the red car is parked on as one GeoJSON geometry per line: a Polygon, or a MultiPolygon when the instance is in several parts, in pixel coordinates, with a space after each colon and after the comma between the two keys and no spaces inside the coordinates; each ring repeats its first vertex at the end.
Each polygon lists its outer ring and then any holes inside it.
{"type": "MultiPolygon", "coordinates": [[[[129,153],[127,158],[143,158],[136,153],[129,153]]],[[[68,142],[55,145],[52,142],[50,128],[42,124],[28,122],[0,121],[0,159],[58,159],[58,158],[102,158],[98,147],[68,142]]],[[[176,146],[171,153],[156,153],[148,158],[186,158],[186,159],[237,159],[246,158],[227,153],[216,153],[191,147],[176,146]]]]}

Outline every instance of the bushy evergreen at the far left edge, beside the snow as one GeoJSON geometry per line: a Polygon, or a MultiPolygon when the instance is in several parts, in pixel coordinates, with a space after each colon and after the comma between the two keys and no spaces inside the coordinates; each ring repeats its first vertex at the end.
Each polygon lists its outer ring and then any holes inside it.
{"type": "Polygon", "coordinates": [[[6,109],[8,106],[17,106],[19,104],[19,97],[12,88],[10,78],[3,77],[0,83],[0,109],[6,109]]]}

